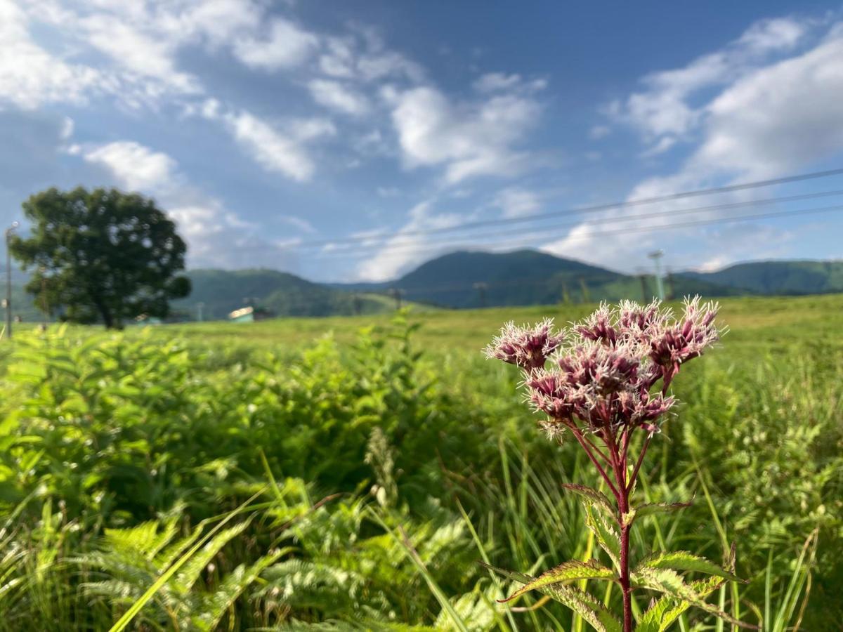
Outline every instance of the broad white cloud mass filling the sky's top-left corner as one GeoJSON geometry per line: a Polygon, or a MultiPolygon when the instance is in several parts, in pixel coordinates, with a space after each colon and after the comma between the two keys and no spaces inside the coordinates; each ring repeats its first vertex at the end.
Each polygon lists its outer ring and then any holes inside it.
{"type": "Polygon", "coordinates": [[[318,35],[268,11],[260,0],[0,0],[0,101],[34,108],[108,94],[131,108],[157,108],[204,92],[181,67],[187,48],[225,49],[270,71],[316,54],[318,35]],[[37,25],[53,30],[51,52],[35,45],[37,25]]]}

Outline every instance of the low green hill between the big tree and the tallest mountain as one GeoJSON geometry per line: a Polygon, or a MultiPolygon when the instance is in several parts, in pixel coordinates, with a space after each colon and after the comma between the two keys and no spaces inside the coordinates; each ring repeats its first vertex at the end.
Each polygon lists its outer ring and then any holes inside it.
{"type": "Polygon", "coordinates": [[[191,318],[196,318],[198,303],[204,303],[202,315],[208,320],[225,319],[247,304],[277,316],[380,313],[394,308],[387,297],[342,292],[277,270],[189,270],[187,275],[193,284],[191,295],[174,301],[172,307],[191,318]]]}

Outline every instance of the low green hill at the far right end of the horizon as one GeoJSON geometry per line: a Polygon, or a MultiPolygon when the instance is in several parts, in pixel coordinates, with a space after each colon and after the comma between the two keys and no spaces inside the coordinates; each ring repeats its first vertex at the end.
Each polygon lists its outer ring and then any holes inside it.
{"type": "Polygon", "coordinates": [[[754,261],[717,272],[684,272],[683,276],[756,294],[843,292],[843,261],[754,261]]]}

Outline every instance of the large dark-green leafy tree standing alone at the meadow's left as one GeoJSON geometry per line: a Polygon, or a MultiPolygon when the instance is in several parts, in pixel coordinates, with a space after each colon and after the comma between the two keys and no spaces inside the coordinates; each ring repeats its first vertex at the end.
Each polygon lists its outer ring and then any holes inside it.
{"type": "Polygon", "coordinates": [[[32,229],[10,249],[33,275],[39,308],[75,323],[120,328],[141,314],[164,317],[191,292],[185,242],[155,202],[116,189],[55,188],[24,202],[32,229]]]}

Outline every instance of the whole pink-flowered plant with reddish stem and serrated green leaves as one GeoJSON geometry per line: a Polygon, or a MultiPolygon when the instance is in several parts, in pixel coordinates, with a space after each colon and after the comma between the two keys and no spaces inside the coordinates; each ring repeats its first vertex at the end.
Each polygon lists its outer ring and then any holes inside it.
{"type": "Polygon", "coordinates": [[[598,560],[572,560],[538,577],[493,569],[522,586],[503,602],[537,590],[572,608],[594,629],[631,632],[636,590],[662,593],[636,621],[639,632],[661,632],[691,606],[743,624],[706,602],[724,581],[734,576],[734,551],[723,569],[687,551],[659,552],[631,568],[630,532],[636,518],[675,511],[689,503],[631,505],[631,495],[650,441],[676,399],[670,383],[685,363],[700,356],[722,333],[715,323],[716,303],[685,301],[684,314],[674,319],[670,309],[653,301],[642,306],[629,301],[600,308],[581,323],[562,331],[550,319],[530,328],[506,324],[486,356],[518,366],[527,400],[551,439],[566,433],[579,443],[615,502],[603,491],[585,485],[565,485],[582,496],[586,525],[614,568],[598,560]],[[640,440],[637,437],[641,436],[640,440]],[[706,579],[685,581],[680,573],[698,571],[706,579]],[[623,617],[590,593],[571,586],[577,580],[615,581],[623,595],[623,617]]]}

